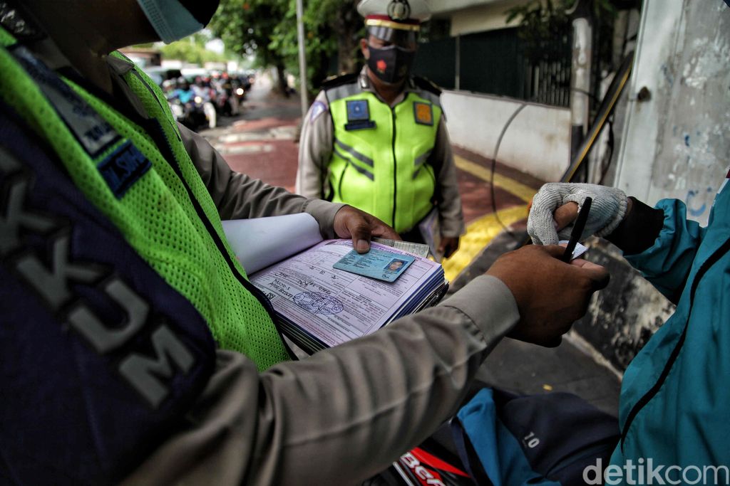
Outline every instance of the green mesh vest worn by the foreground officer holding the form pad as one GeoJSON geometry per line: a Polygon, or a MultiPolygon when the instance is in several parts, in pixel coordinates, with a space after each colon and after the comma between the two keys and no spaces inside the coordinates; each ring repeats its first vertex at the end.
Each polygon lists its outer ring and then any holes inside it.
{"type": "MultiPolygon", "coordinates": [[[[47,141],[74,184],[142,259],[193,304],[220,348],[244,353],[260,370],[287,360],[288,353],[272,318],[246,288],[253,290],[225,238],[215,203],[185,152],[159,87],[137,68],[125,77],[156,120],[153,125],[159,125],[164,133],[169,146],[162,150],[167,157],[147,130],[68,79],[58,85],[72,90],[61,97],[61,92],[56,92],[55,98],[49,98],[44,91],[49,84],[41,83],[51,78],[47,83],[58,82],[55,74],[34,59],[20,63],[17,53],[11,52],[17,47],[10,47],[15,39],[1,29],[0,42],[4,46],[0,48],[0,98],[47,141]],[[41,77],[31,77],[31,72],[41,77]],[[118,141],[90,155],[74,137],[78,132],[59,116],[58,103],[72,103],[74,110],[100,115],[109,125],[105,129],[118,141]],[[150,168],[123,195],[115,194],[109,179],[102,175],[103,165],[130,144],[139,151],[135,153],[147,158],[150,168]]],[[[28,54],[26,59],[30,59],[28,54]]]]}

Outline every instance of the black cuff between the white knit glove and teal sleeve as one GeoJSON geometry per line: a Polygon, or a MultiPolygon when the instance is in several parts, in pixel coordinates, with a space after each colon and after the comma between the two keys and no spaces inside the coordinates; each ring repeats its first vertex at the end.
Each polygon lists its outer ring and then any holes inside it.
{"type": "Polygon", "coordinates": [[[654,209],[639,201],[631,199],[631,212],[623,217],[618,227],[606,239],[626,255],[641,253],[653,246],[664,227],[664,211],[654,209]]]}

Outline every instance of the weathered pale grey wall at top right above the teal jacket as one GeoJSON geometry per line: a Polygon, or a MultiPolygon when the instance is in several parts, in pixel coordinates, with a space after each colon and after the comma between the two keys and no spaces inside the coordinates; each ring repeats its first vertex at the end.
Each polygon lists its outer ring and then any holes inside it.
{"type": "Polygon", "coordinates": [[[730,9],[645,0],[638,45],[616,185],[650,204],[684,200],[704,224],[730,163],[730,9]]]}

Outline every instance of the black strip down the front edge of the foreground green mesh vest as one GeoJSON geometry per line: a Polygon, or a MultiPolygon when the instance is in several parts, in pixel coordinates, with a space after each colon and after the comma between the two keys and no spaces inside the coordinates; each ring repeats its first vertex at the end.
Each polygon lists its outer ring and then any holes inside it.
{"type": "Polygon", "coordinates": [[[210,219],[208,219],[208,216],[205,214],[205,211],[203,211],[202,206],[200,205],[197,197],[193,194],[193,190],[188,185],[188,181],[185,180],[185,177],[183,176],[183,170],[180,168],[180,164],[177,162],[177,159],[174,157],[174,152],[172,151],[172,146],[170,146],[169,141],[167,140],[167,137],[165,136],[164,130],[162,129],[162,125],[160,124],[159,120],[153,117],[150,119],[150,122],[152,122],[152,125],[155,127],[157,132],[160,134],[161,138],[164,140],[164,146],[159,146],[158,149],[160,149],[160,152],[167,152],[163,153],[163,156],[166,157],[166,160],[172,160],[174,163],[170,163],[170,166],[172,167],[172,170],[175,171],[177,174],[177,178],[180,179],[180,181],[183,183],[183,187],[185,187],[185,191],[188,192],[188,197],[191,200],[191,203],[193,203],[193,208],[195,208],[195,212],[198,215],[201,222],[203,222],[205,229],[207,230],[208,234],[210,235],[210,238],[212,238],[213,243],[215,243],[216,248],[218,248],[218,251],[223,256],[223,259],[226,261],[226,264],[228,264],[229,270],[231,270],[231,273],[234,275],[234,277],[241,283],[241,285],[250,292],[250,294],[253,295],[253,297],[258,300],[258,302],[261,304],[262,307],[264,307],[264,310],[267,314],[269,314],[269,318],[271,318],[272,323],[274,324],[274,329],[277,330],[277,333],[279,334],[279,337],[281,339],[281,342],[284,346],[284,349],[286,350],[287,354],[290,356],[290,358],[293,361],[298,360],[299,358],[296,357],[296,354],[293,353],[291,348],[289,347],[288,343],[284,339],[284,334],[282,333],[280,329],[280,324],[277,319],[276,312],[274,311],[274,307],[272,307],[272,303],[269,302],[269,299],[266,298],[264,295],[264,292],[258,289],[253,283],[250,283],[246,278],[244,278],[241,273],[237,270],[234,262],[231,260],[231,256],[228,254],[228,251],[226,251],[226,246],[223,244],[223,240],[220,239],[220,236],[218,235],[218,232],[213,227],[213,224],[210,222],[210,219]]]}

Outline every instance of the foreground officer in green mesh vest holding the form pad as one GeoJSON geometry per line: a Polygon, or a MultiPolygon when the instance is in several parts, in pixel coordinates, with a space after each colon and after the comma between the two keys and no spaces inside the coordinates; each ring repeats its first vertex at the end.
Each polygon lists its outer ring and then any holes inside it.
{"type": "Polygon", "coordinates": [[[234,173],[115,52],[214,10],[0,1],[2,484],[357,482],[453,412],[502,336],[552,342],[606,276],[531,246],[444,305],[290,361],[220,219],[306,211],[363,250],[397,235],[234,173]]]}

